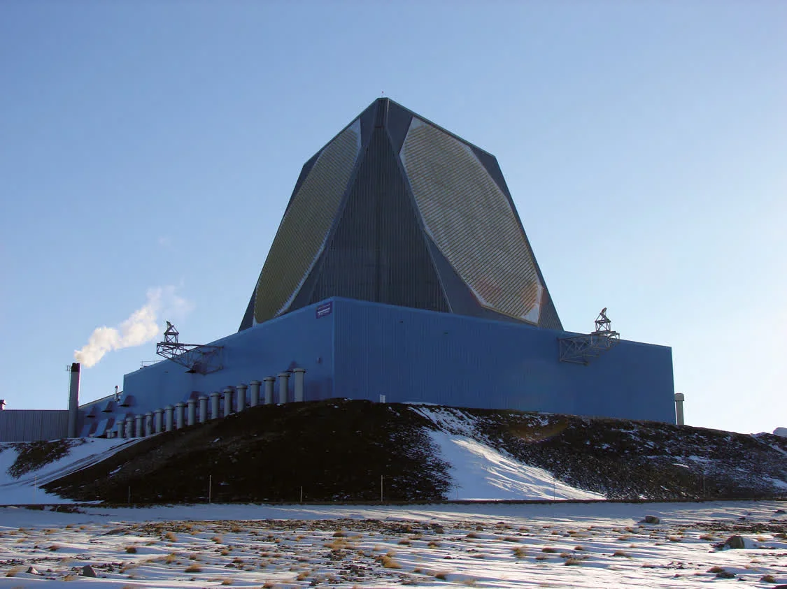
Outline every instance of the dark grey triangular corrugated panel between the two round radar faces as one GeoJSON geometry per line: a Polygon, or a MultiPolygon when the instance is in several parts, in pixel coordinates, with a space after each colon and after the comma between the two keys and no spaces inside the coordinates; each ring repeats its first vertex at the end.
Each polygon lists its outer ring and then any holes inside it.
{"type": "Polygon", "coordinates": [[[448,311],[390,139],[371,134],[310,302],[331,296],[448,311]]]}

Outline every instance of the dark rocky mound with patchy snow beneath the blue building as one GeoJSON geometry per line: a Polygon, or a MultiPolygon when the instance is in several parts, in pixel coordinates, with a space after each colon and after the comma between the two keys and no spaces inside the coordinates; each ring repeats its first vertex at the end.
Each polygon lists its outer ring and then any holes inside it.
{"type": "Polygon", "coordinates": [[[435,501],[431,432],[476,440],[609,499],[787,495],[787,439],[656,422],[331,399],[253,407],[140,440],[46,485],[83,501],[435,501]]]}

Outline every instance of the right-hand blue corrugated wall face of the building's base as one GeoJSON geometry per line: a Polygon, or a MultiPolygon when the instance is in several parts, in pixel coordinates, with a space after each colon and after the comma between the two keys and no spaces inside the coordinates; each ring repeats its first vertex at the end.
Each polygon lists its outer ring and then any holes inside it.
{"type": "Polygon", "coordinates": [[[621,341],[560,363],[549,329],[334,300],[338,396],[674,423],[671,348],[621,341]]]}

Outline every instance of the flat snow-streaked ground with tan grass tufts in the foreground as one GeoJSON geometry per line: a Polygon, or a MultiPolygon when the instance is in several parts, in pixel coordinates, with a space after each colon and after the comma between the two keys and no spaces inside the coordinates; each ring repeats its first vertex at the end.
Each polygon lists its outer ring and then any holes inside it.
{"type": "Polygon", "coordinates": [[[773,587],[787,583],[784,507],[4,507],[0,587],[773,587]],[[745,549],[714,548],[733,533],[745,549]]]}

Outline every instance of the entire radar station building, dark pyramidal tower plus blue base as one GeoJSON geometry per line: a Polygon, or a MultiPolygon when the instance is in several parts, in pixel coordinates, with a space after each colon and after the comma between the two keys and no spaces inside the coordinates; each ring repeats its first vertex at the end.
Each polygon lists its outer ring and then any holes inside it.
{"type": "Polygon", "coordinates": [[[333,397],[675,422],[671,348],[565,331],[496,158],[388,98],[304,164],[238,332],[158,352],[82,435],[333,397]]]}

